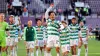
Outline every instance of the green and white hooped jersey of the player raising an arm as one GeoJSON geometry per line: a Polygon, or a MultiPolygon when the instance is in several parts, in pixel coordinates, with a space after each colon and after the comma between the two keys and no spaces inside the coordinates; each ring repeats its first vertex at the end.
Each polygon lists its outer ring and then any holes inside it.
{"type": "Polygon", "coordinates": [[[59,36],[58,29],[60,28],[60,22],[57,20],[47,20],[47,34],[48,36],[59,36]]]}

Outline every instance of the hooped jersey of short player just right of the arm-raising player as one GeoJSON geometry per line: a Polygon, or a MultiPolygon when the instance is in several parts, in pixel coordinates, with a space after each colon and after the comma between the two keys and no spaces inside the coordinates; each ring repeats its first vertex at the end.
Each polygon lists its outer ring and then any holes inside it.
{"type": "Polygon", "coordinates": [[[68,30],[67,27],[60,31],[60,43],[61,43],[61,45],[70,44],[69,32],[70,31],[68,30]]]}

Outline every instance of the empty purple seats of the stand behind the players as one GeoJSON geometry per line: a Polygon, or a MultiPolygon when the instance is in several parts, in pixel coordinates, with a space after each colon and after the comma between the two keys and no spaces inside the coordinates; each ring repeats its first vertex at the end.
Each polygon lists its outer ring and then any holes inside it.
{"type": "MultiPolygon", "coordinates": [[[[7,2],[5,2],[6,0],[0,0],[0,12],[6,12],[7,11],[7,2]]],[[[27,5],[27,7],[25,9],[28,10],[29,16],[31,15],[35,15],[36,14],[43,14],[45,12],[45,9],[47,9],[49,7],[49,4],[45,4],[43,3],[43,1],[41,0],[20,0],[22,2],[22,4],[24,4],[21,8],[22,12],[24,12],[24,8],[25,8],[25,4],[27,5]],[[30,1],[30,3],[28,3],[30,1]],[[37,6],[36,6],[37,5],[37,6]]],[[[86,20],[90,21],[89,19],[91,19],[91,21],[95,20],[95,22],[98,21],[99,18],[99,4],[100,4],[100,0],[80,0],[83,1],[85,4],[88,4],[89,7],[92,9],[92,15],[90,16],[86,16],[86,20]]],[[[61,10],[62,12],[64,11],[69,11],[69,7],[71,4],[70,0],[54,0],[54,4],[55,4],[55,9],[56,11],[61,10]]],[[[88,24],[91,24],[89,22],[87,22],[88,24]]],[[[97,23],[93,24],[93,28],[95,27],[97,23]]]]}

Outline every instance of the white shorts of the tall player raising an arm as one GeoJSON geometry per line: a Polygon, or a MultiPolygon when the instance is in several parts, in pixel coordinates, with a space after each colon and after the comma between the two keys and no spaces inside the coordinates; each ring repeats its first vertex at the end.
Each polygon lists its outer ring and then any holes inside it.
{"type": "Polygon", "coordinates": [[[60,47],[60,41],[58,36],[48,36],[47,47],[60,47]]]}

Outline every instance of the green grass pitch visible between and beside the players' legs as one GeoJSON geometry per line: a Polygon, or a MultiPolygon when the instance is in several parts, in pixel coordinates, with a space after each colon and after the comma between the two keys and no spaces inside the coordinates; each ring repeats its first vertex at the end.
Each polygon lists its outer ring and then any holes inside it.
{"type": "MultiPolygon", "coordinates": [[[[100,41],[96,41],[94,39],[89,40],[88,48],[89,48],[88,56],[100,56],[100,41]]],[[[81,56],[85,56],[84,52],[85,52],[84,47],[82,47],[81,56]]],[[[52,56],[56,56],[55,49],[52,49],[51,53],[52,56]]],[[[18,56],[26,56],[26,50],[23,41],[20,41],[18,43],[18,56]]]]}

